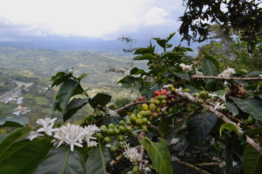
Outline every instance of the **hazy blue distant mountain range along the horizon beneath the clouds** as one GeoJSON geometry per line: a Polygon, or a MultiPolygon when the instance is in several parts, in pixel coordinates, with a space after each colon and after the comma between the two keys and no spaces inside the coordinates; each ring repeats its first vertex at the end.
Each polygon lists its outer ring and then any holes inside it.
{"type": "MultiPolygon", "coordinates": [[[[133,48],[146,47],[149,45],[150,38],[137,39],[133,48]]],[[[152,40],[152,44],[156,44],[155,40],[152,40]]],[[[172,38],[170,44],[177,46],[180,44],[180,39],[172,38]]],[[[67,50],[67,51],[88,51],[98,53],[123,53],[124,49],[129,49],[128,46],[118,39],[114,40],[102,40],[102,39],[90,39],[85,37],[45,37],[45,38],[30,38],[24,41],[0,41],[0,46],[9,47],[24,47],[24,48],[49,48],[55,50],[67,50]]],[[[182,43],[182,46],[188,47],[186,43],[182,43]]],[[[189,47],[194,51],[197,51],[199,44],[191,44],[189,47]]],[[[156,46],[156,49],[162,52],[162,48],[156,46]]],[[[197,53],[191,52],[190,55],[195,56],[197,53]]]]}

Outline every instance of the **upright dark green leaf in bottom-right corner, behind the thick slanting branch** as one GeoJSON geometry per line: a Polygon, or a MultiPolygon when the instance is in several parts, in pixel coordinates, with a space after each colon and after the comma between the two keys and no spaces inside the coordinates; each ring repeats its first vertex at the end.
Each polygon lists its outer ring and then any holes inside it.
{"type": "MultiPolygon", "coordinates": [[[[254,138],[262,144],[262,137],[254,138]]],[[[262,147],[262,146],[261,146],[262,147]]],[[[243,154],[243,170],[245,174],[260,174],[262,171],[262,156],[249,144],[245,146],[243,154]]]]}

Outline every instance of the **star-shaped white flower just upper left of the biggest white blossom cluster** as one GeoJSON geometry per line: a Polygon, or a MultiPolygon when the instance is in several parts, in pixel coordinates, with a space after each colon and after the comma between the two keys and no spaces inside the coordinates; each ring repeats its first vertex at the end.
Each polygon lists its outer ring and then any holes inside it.
{"type": "Polygon", "coordinates": [[[57,118],[50,119],[50,118],[47,118],[47,117],[45,119],[38,119],[36,121],[36,123],[42,125],[43,128],[40,128],[40,129],[36,130],[36,132],[45,132],[46,135],[48,135],[48,136],[53,135],[52,132],[59,131],[59,128],[53,128],[54,121],[56,119],[57,118]]]}

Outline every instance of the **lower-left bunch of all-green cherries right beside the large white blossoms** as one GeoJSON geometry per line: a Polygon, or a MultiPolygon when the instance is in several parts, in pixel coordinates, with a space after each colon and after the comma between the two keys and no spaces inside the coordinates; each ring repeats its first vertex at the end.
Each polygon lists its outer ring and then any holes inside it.
{"type": "Polygon", "coordinates": [[[114,125],[113,123],[110,123],[108,126],[102,125],[100,128],[102,128],[101,133],[96,133],[96,137],[102,139],[101,144],[105,145],[111,141],[111,139],[114,136],[117,136],[117,140],[119,142],[123,141],[124,134],[128,133],[128,131],[132,131],[132,127],[125,126],[125,121],[121,120],[119,124],[114,125]]]}

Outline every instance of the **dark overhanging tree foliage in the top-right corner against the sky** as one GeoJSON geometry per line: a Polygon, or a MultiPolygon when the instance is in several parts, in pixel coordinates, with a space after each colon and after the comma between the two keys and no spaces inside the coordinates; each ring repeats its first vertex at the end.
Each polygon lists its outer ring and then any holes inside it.
{"type": "Polygon", "coordinates": [[[247,42],[249,53],[253,52],[254,45],[259,43],[257,37],[262,34],[261,0],[183,0],[183,2],[186,3],[186,10],[180,17],[182,25],[179,32],[183,35],[182,40],[187,40],[188,44],[191,39],[198,42],[209,39],[210,30],[207,26],[210,23],[217,23],[226,34],[231,28],[239,32],[240,39],[247,42]]]}

